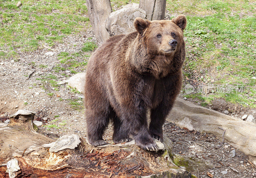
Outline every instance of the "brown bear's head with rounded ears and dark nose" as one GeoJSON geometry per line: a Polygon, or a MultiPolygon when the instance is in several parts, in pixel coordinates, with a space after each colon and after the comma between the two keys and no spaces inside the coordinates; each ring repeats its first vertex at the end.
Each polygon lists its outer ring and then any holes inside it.
{"type": "Polygon", "coordinates": [[[187,19],[184,15],[172,20],[148,21],[140,17],[134,20],[134,27],[143,38],[147,52],[160,55],[173,55],[185,45],[183,30],[186,25],[187,19]]]}

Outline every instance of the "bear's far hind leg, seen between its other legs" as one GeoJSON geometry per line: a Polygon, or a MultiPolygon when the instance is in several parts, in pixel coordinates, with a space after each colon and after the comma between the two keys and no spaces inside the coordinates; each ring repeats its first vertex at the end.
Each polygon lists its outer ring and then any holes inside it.
{"type": "Polygon", "coordinates": [[[114,118],[113,142],[117,144],[130,141],[132,141],[132,139],[129,138],[128,131],[123,128],[122,121],[118,118],[118,116],[116,116],[114,118]]]}

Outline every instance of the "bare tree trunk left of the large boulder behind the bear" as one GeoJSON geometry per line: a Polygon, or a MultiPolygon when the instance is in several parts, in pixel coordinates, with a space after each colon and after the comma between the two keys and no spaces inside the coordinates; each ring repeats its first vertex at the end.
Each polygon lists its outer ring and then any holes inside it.
{"type": "Polygon", "coordinates": [[[110,36],[105,28],[105,21],[112,12],[110,0],[86,0],[86,5],[96,40],[100,44],[110,36]]]}

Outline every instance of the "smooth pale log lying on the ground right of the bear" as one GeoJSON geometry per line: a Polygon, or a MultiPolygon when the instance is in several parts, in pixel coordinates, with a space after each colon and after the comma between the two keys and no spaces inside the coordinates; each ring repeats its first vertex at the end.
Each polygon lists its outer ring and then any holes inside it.
{"type": "Polygon", "coordinates": [[[215,134],[220,140],[224,132],[222,129],[225,129],[225,141],[249,155],[249,159],[256,166],[255,123],[197,106],[180,98],[176,99],[167,120],[181,128],[215,134]]]}

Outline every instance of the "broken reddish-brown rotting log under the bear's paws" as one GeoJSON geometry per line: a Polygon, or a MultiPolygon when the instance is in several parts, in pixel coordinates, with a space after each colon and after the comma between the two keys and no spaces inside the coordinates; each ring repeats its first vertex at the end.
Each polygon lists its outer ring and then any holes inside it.
{"type": "Polygon", "coordinates": [[[173,164],[166,136],[164,144],[155,140],[158,152],[141,150],[134,141],[93,147],[75,134],[54,141],[36,133],[33,118],[20,110],[10,124],[0,124],[0,177],[191,177],[173,164]]]}

